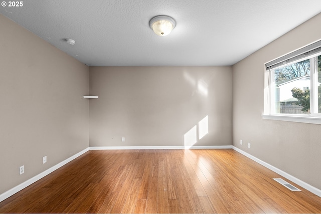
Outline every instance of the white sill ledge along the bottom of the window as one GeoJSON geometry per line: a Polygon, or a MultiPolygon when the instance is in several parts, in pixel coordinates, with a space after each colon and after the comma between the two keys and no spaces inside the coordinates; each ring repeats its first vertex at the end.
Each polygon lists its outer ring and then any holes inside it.
{"type": "Polygon", "coordinates": [[[321,117],[315,116],[296,116],[292,114],[288,115],[269,115],[262,114],[263,119],[268,120],[281,120],[281,121],[289,121],[289,122],[297,122],[297,123],[311,123],[311,124],[321,124],[321,117]]]}

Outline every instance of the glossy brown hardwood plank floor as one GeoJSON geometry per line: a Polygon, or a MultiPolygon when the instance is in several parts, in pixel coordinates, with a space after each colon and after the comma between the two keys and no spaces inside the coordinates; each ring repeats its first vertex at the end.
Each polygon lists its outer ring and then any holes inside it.
{"type": "Polygon", "coordinates": [[[232,149],[92,150],[0,202],[0,213],[321,213],[320,197],[279,177],[232,149]]]}

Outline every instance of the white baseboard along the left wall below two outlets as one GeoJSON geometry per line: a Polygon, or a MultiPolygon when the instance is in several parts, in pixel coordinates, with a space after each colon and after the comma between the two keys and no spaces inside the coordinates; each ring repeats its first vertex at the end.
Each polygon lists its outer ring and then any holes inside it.
{"type": "Polygon", "coordinates": [[[9,189],[8,191],[0,194],[0,202],[7,199],[8,197],[16,194],[17,192],[19,192],[20,190],[26,188],[27,186],[33,184],[34,182],[40,180],[41,178],[45,177],[46,175],[50,174],[51,172],[55,171],[56,169],[62,167],[63,165],[65,165],[66,163],[69,163],[70,161],[72,161],[73,159],[79,157],[80,155],[84,154],[85,152],[89,151],[89,147],[78,152],[77,154],[67,158],[66,160],[54,165],[53,167],[47,169],[46,171],[41,172],[40,174],[30,178],[29,180],[26,180],[25,182],[9,189]]]}

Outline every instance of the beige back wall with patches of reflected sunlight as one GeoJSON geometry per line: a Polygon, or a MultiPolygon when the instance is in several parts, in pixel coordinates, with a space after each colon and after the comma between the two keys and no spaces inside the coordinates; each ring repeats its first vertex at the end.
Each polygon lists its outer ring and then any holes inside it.
{"type": "Polygon", "coordinates": [[[231,67],[90,67],[90,146],[232,145],[231,67]],[[125,142],[121,142],[125,137],[125,142]]]}

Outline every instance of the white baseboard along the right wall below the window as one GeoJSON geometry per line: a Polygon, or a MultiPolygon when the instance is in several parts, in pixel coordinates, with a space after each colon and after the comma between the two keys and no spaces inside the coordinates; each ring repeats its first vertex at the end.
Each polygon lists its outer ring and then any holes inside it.
{"type": "Polygon", "coordinates": [[[315,188],[314,186],[311,186],[310,184],[308,184],[308,183],[306,183],[306,182],[304,182],[304,181],[302,181],[302,180],[300,180],[300,179],[298,179],[298,178],[286,173],[285,171],[282,171],[279,168],[276,168],[275,166],[272,166],[272,165],[264,162],[263,160],[260,160],[260,159],[258,159],[256,157],[254,157],[253,155],[251,155],[251,154],[249,154],[249,153],[247,153],[247,152],[245,152],[245,151],[243,151],[243,150],[241,150],[241,149],[239,149],[239,148],[237,148],[235,146],[232,146],[232,148],[235,151],[237,151],[237,152],[245,155],[246,157],[254,160],[255,162],[261,164],[262,166],[265,166],[266,168],[278,173],[279,175],[289,179],[290,181],[296,183],[299,186],[302,186],[303,188],[305,188],[306,190],[312,192],[313,194],[316,194],[317,196],[321,197],[321,190],[320,189],[315,188]]]}

